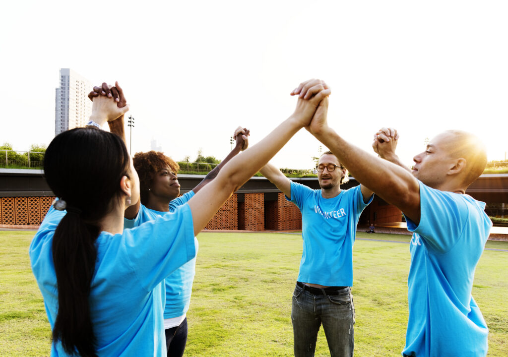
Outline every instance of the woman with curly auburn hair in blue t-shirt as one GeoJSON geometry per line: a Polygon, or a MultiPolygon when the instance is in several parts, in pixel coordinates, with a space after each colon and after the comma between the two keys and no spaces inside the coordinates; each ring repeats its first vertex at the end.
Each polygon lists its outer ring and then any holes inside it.
{"type": "MultiPolygon", "coordinates": [[[[122,135],[121,131],[115,132],[122,135]]],[[[133,161],[134,168],[139,175],[140,201],[125,210],[124,228],[133,228],[174,212],[179,206],[188,202],[195,193],[213,180],[233,156],[247,148],[248,133],[246,128],[238,127],[234,133],[236,146],[231,153],[210,171],[194,189],[184,193],[181,197],[178,197],[180,194],[180,184],[177,177],[179,166],[172,158],[153,150],[136,153],[133,161]]],[[[197,240],[196,250],[198,250],[197,240]]],[[[181,357],[185,350],[187,342],[186,313],[190,304],[195,274],[196,258],[193,258],[168,276],[161,286],[163,304],[165,301],[164,330],[169,357],[181,357]]]]}

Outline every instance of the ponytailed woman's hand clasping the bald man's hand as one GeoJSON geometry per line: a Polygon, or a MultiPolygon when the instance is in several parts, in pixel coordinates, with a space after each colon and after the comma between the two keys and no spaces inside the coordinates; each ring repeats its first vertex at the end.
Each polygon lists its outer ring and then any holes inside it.
{"type": "Polygon", "coordinates": [[[293,117],[296,118],[302,126],[307,127],[320,103],[327,98],[330,93],[331,89],[320,79],[310,79],[300,83],[300,85],[291,92],[291,95],[298,95],[298,102],[293,117]]]}

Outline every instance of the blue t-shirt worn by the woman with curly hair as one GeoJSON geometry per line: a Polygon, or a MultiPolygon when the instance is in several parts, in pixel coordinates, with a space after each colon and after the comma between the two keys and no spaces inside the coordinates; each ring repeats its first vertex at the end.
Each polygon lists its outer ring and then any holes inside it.
{"type": "MultiPolygon", "coordinates": [[[[194,191],[184,193],[182,196],[169,203],[169,212],[160,212],[140,206],[139,213],[135,219],[125,219],[124,228],[131,228],[141,223],[153,220],[158,216],[174,212],[179,206],[185,204],[194,196],[194,191]]],[[[198,240],[196,239],[196,252],[198,251],[198,240]]],[[[196,275],[196,258],[182,265],[168,276],[162,287],[164,318],[178,317],[185,314],[190,305],[192,284],[196,275]]]]}

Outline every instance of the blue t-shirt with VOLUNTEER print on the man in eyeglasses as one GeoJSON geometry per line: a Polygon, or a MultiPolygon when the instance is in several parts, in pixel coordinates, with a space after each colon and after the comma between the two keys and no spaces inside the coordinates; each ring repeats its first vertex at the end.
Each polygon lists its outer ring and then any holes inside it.
{"type": "Polygon", "coordinates": [[[291,202],[302,212],[303,254],[298,281],[353,286],[356,225],[371,201],[372,197],[363,202],[360,185],[324,199],[320,189],[291,181],[291,202]]]}

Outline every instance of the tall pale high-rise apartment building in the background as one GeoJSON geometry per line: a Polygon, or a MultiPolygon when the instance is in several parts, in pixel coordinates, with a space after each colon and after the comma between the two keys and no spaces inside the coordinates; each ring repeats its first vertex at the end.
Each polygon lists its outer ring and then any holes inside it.
{"type": "Polygon", "coordinates": [[[86,78],[71,69],[60,69],[60,87],[55,94],[55,135],[85,126],[92,109],[87,97],[92,88],[86,78]]]}

